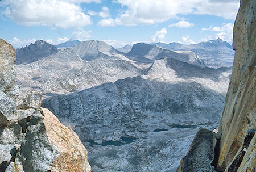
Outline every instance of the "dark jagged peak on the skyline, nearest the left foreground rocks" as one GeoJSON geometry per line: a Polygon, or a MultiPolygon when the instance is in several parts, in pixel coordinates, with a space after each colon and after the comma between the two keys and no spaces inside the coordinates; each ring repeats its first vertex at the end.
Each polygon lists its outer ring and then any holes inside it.
{"type": "Polygon", "coordinates": [[[39,40],[27,47],[16,49],[16,64],[29,64],[57,52],[54,45],[39,40]]]}

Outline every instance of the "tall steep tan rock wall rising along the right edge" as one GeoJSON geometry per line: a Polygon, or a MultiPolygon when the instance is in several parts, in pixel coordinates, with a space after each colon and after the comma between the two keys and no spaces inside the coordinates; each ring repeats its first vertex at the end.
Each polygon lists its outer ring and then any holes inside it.
{"type": "MultiPolygon", "coordinates": [[[[236,53],[232,78],[226,95],[225,108],[219,127],[219,132],[222,133],[220,157],[218,158],[218,169],[220,171],[224,171],[229,163],[232,163],[238,150],[243,146],[243,140],[247,131],[256,128],[255,5],[255,1],[242,0],[234,24],[233,48],[236,53]]],[[[244,156],[245,160],[243,161],[246,161],[250,157],[254,158],[255,162],[255,137],[251,140],[250,147],[253,147],[253,152],[247,151],[244,156]]],[[[250,161],[253,162],[253,160],[250,161]]],[[[241,164],[244,163],[241,162],[241,164]]],[[[245,166],[241,168],[245,168],[245,166]]]]}

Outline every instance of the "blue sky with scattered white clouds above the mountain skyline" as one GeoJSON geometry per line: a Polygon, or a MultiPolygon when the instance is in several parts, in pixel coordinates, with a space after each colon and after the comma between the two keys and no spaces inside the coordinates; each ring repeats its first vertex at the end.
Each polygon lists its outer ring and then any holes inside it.
{"type": "Polygon", "coordinates": [[[101,40],[232,44],[239,0],[0,0],[0,38],[14,48],[36,40],[56,45],[101,40]]]}

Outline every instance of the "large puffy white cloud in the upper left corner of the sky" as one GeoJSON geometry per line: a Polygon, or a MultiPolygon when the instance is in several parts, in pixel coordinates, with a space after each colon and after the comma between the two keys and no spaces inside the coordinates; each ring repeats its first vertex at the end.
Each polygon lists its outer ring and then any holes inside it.
{"type": "Polygon", "coordinates": [[[90,16],[84,14],[81,7],[75,4],[79,2],[92,1],[4,0],[2,6],[5,6],[5,10],[2,15],[24,26],[70,28],[92,24],[90,16]]]}

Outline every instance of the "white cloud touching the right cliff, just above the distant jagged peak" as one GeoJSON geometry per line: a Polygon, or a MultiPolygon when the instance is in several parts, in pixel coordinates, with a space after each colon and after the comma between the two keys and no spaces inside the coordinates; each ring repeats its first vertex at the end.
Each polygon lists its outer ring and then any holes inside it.
{"type": "Polygon", "coordinates": [[[233,27],[232,23],[222,23],[222,26],[210,26],[209,28],[202,28],[203,31],[218,32],[212,39],[222,39],[232,44],[233,41],[233,27]]]}

